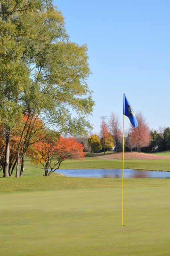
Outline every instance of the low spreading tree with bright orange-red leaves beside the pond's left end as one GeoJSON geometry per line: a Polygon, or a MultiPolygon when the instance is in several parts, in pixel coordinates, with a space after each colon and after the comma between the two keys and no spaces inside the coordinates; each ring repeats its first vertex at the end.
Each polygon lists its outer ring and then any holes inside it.
{"type": "Polygon", "coordinates": [[[60,164],[67,159],[84,158],[84,148],[74,138],[62,138],[49,142],[37,142],[29,150],[32,162],[42,164],[44,176],[50,176],[60,168],[60,164]]]}

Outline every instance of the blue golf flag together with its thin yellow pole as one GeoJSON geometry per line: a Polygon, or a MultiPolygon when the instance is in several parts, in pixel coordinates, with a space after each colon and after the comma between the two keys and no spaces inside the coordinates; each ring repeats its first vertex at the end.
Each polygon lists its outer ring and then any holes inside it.
{"type": "Polygon", "coordinates": [[[130,120],[130,123],[134,128],[138,126],[138,120],[136,119],[136,116],[134,114],[134,111],[128,102],[128,99],[125,96],[123,96],[123,142],[122,142],[122,226],[124,226],[124,116],[127,116],[130,120]]]}

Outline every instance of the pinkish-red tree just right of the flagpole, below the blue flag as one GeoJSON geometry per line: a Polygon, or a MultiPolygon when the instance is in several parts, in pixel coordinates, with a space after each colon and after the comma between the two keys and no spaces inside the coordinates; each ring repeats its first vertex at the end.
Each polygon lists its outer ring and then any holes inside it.
{"type": "Polygon", "coordinates": [[[138,127],[134,128],[131,125],[130,132],[132,139],[136,144],[135,146],[138,147],[138,151],[140,153],[140,149],[142,147],[146,147],[150,144],[150,130],[141,112],[136,114],[136,118],[138,120],[138,127]]]}

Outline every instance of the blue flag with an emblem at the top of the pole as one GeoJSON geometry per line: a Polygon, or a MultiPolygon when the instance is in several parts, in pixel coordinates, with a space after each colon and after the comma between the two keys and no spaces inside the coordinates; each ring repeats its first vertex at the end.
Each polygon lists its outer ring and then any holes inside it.
{"type": "Polygon", "coordinates": [[[134,128],[138,126],[138,120],[136,119],[134,111],[130,106],[130,103],[128,102],[128,99],[126,98],[125,94],[124,94],[123,114],[129,118],[134,128]]]}

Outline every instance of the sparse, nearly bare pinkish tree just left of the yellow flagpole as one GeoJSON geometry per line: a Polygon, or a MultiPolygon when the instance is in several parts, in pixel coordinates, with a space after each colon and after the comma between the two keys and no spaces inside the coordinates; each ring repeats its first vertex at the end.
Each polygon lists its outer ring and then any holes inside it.
{"type": "Polygon", "coordinates": [[[122,132],[120,129],[120,123],[119,123],[118,116],[116,116],[114,114],[114,112],[112,112],[110,119],[109,119],[109,130],[110,130],[110,133],[112,134],[112,137],[114,140],[114,146],[116,148],[116,153],[117,153],[122,132]]]}

